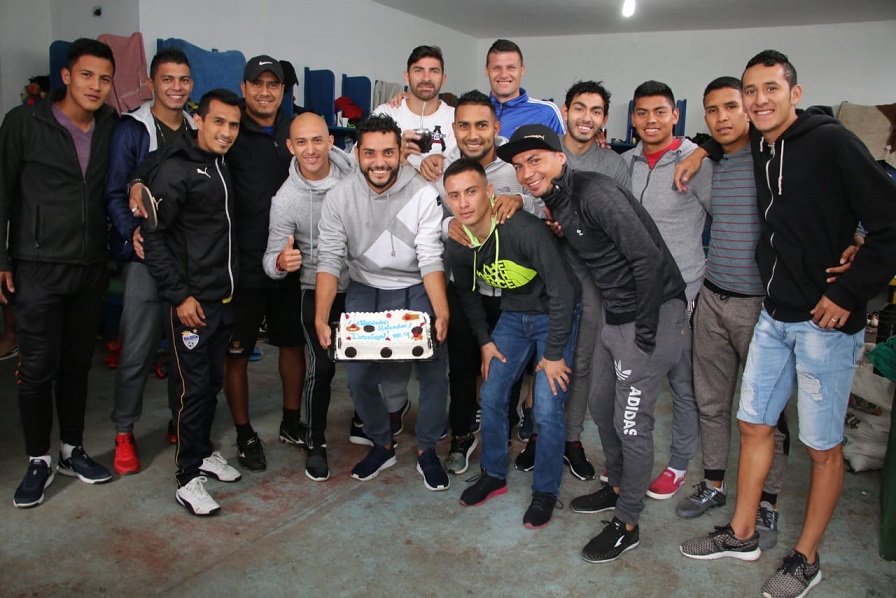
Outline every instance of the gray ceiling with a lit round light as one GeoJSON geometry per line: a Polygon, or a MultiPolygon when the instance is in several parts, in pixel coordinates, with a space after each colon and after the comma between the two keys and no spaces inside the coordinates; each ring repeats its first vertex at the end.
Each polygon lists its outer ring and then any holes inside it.
{"type": "MultiPolygon", "coordinates": [[[[373,0],[477,39],[896,20],[896,0],[373,0]]],[[[896,35],[896,31],[893,32],[896,35]]]]}

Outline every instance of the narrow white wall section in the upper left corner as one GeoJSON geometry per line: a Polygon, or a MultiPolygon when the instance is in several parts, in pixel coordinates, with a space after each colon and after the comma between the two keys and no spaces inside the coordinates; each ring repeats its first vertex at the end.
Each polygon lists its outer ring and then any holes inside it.
{"type": "Polygon", "coordinates": [[[0,2],[0,106],[21,103],[28,78],[46,75],[51,36],[49,0],[0,2]]]}

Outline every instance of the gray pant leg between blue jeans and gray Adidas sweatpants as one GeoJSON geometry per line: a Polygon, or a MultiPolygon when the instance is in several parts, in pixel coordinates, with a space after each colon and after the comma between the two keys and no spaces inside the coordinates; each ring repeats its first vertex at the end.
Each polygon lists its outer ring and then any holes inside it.
{"type": "Polygon", "coordinates": [[[579,440],[584,429],[585,411],[588,408],[588,392],[591,386],[591,369],[594,358],[594,342],[603,327],[603,303],[600,289],[594,284],[591,273],[580,277],[582,286],[582,315],[579,318],[579,336],[573,356],[572,381],[566,399],[566,441],[579,440]]]}

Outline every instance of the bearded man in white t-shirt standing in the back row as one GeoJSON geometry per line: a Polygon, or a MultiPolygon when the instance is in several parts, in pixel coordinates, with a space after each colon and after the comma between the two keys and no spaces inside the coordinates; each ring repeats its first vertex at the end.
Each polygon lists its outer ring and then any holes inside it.
{"type": "Polygon", "coordinates": [[[390,103],[381,104],[374,114],[386,114],[401,127],[401,161],[420,171],[429,181],[442,175],[442,160],[428,160],[427,156],[444,156],[454,149],[454,108],[439,99],[439,92],[445,84],[445,60],[437,46],[417,46],[408,57],[408,67],[404,82],[408,86],[407,97],[401,99],[398,107],[390,103]],[[431,145],[421,139],[418,129],[426,129],[432,134],[431,145]],[[426,151],[422,151],[426,150],[426,151]]]}

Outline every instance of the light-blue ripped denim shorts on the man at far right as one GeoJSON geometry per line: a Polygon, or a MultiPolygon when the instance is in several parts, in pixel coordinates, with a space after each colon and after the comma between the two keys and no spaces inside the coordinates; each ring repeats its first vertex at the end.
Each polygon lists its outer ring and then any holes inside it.
{"type": "Polygon", "coordinates": [[[863,331],[844,334],[811,320],[779,322],[762,308],[744,366],[737,419],[777,425],[796,386],[802,443],[820,451],[837,446],[862,343],[863,331]]]}

